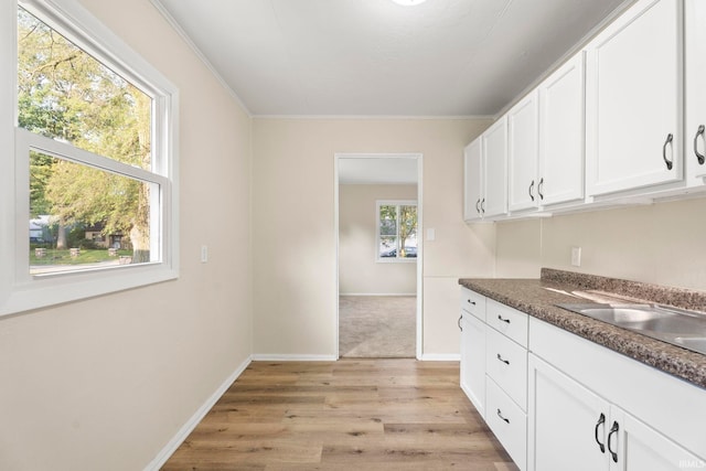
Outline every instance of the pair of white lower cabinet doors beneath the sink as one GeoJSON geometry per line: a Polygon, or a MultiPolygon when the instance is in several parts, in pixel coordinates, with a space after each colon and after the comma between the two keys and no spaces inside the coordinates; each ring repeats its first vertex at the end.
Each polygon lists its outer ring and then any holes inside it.
{"type": "Polygon", "coordinates": [[[528,470],[678,470],[699,460],[530,354],[528,470]]]}

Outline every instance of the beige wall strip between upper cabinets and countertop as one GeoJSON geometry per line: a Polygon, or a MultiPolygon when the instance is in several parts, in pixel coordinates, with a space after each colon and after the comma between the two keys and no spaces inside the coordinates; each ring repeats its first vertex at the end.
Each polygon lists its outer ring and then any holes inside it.
{"type": "Polygon", "coordinates": [[[706,197],[499,224],[498,276],[541,267],[706,291],[706,197]]]}

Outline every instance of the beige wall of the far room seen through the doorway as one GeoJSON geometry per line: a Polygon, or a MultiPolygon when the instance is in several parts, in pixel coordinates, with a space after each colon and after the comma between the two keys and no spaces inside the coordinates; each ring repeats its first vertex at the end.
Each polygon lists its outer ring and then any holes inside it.
{"type": "Polygon", "coordinates": [[[339,292],[341,295],[415,295],[415,261],[376,260],[377,200],[417,200],[417,185],[339,186],[339,292]]]}

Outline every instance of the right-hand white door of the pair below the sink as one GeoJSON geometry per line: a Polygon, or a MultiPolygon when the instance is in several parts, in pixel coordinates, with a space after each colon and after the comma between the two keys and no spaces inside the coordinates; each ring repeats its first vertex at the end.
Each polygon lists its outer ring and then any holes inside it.
{"type": "Polygon", "coordinates": [[[706,465],[704,460],[616,406],[610,410],[610,428],[613,425],[617,431],[610,437],[608,450],[611,471],[677,471],[706,465]]]}

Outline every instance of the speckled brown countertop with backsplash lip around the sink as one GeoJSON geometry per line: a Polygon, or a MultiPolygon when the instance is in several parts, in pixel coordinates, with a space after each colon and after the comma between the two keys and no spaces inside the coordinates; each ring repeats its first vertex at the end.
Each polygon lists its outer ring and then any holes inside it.
{"type": "Polygon", "coordinates": [[[618,296],[706,311],[706,292],[665,288],[592,275],[542,269],[541,279],[461,278],[459,285],[549,322],[591,342],[706,388],[706,355],[574,313],[557,303],[591,302],[569,295],[581,291],[618,296]]]}

